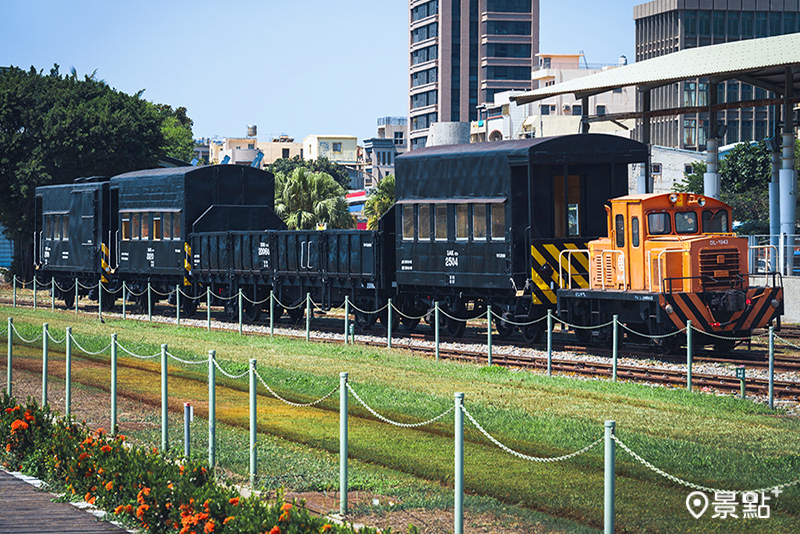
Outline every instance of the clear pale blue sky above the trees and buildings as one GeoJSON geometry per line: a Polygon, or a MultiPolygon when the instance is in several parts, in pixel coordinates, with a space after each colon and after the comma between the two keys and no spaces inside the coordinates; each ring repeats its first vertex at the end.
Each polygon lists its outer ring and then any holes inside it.
{"type": "MultiPolygon", "coordinates": [[[[541,0],[540,51],[634,58],[639,1],[541,0]]],[[[407,0],[0,0],[0,66],[184,106],[199,137],[374,137],[408,113],[407,0]]]]}

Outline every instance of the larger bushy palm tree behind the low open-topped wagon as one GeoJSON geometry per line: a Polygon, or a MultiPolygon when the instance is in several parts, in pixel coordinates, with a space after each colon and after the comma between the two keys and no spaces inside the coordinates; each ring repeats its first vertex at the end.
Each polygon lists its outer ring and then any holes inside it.
{"type": "Polygon", "coordinates": [[[355,219],[344,198],[345,189],[331,175],[295,168],[275,175],[275,213],[290,230],[309,230],[317,223],[328,228],[353,228],[355,219]]]}

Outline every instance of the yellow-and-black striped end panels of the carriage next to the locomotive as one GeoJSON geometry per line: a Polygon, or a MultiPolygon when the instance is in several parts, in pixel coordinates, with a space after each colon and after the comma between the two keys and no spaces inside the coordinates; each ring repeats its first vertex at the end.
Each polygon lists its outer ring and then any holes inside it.
{"type": "Polygon", "coordinates": [[[559,255],[561,256],[561,273],[564,275],[563,287],[585,289],[589,287],[589,256],[586,252],[571,255],[561,254],[565,250],[586,250],[588,242],[584,240],[534,241],[531,244],[531,290],[534,304],[555,304],[556,291],[559,289],[559,255]]]}

